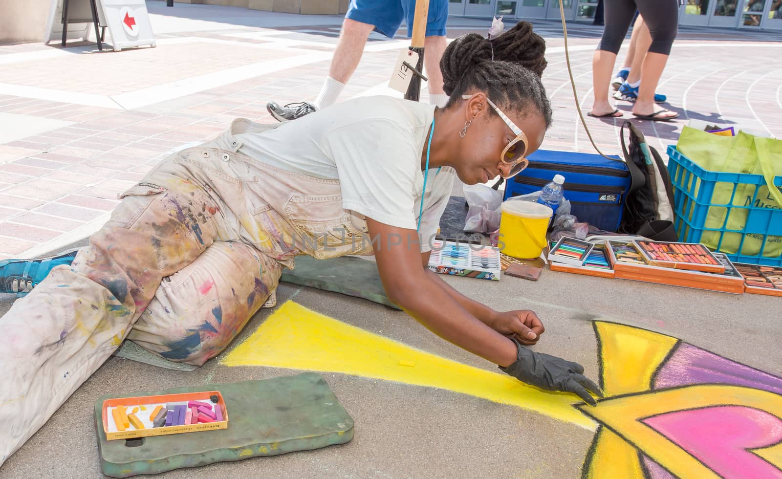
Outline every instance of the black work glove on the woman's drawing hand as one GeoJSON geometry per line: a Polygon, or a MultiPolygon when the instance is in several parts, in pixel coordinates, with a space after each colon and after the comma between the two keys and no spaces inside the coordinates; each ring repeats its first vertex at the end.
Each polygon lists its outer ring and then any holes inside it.
{"type": "Polygon", "coordinates": [[[529,351],[517,340],[510,339],[516,344],[518,359],[506,368],[500,366],[504,373],[547,391],[565,391],[578,394],[590,405],[597,405],[597,402],[587,391],[603,397],[603,391],[600,387],[583,375],[584,369],[579,363],[529,351]]]}

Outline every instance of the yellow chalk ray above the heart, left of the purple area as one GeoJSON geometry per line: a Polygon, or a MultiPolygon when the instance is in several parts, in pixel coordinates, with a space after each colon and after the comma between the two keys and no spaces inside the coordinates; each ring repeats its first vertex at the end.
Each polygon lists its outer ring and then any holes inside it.
{"type": "Polygon", "coordinates": [[[614,322],[594,322],[600,340],[603,391],[608,395],[651,389],[651,376],[679,341],[675,337],[614,322]]]}

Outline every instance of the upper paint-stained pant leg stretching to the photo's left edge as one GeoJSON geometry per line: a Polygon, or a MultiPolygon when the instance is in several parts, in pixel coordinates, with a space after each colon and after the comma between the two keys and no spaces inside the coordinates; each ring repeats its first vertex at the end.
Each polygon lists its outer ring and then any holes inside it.
{"type": "Polygon", "coordinates": [[[174,175],[136,185],[74,263],[0,318],[0,465],[106,361],[160,280],[221,230],[203,189],[174,175]]]}

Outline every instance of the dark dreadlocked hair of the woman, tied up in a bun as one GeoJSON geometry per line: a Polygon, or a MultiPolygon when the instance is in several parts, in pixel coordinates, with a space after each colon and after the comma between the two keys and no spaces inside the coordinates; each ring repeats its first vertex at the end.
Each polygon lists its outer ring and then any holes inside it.
{"type": "Polygon", "coordinates": [[[465,92],[478,89],[511,110],[535,108],[546,127],[550,126],[551,105],[540,81],[547,65],[545,52],[546,42],[529,22],[519,22],[493,40],[479,34],[462,35],[448,45],[440,60],[449,105],[465,92]]]}

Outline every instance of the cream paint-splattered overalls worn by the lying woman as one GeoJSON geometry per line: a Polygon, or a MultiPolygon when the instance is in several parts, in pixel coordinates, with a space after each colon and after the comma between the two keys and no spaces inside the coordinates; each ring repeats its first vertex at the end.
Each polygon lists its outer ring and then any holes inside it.
{"type": "Polygon", "coordinates": [[[238,153],[234,135],[267,128],[239,119],[163,160],[120,195],[70,267],[54,268],[0,319],[0,465],[125,337],[203,364],[267,301],[296,254],[371,254],[338,181],[238,153]]]}

